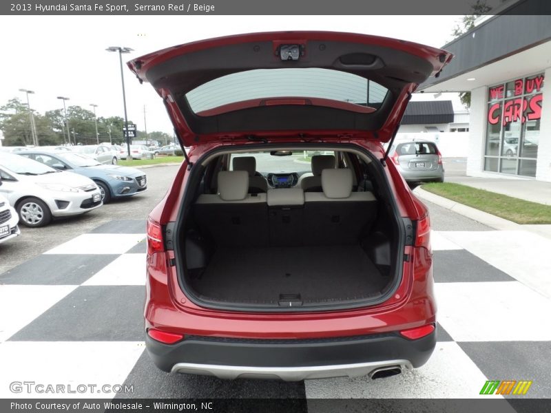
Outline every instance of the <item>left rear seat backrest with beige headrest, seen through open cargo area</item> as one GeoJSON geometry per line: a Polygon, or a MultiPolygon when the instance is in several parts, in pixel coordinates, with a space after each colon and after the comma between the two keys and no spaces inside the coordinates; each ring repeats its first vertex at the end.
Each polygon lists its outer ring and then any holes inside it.
{"type": "Polygon", "coordinates": [[[247,193],[248,188],[246,171],[220,171],[219,193],[199,195],[196,222],[218,246],[267,246],[267,195],[247,193]]]}

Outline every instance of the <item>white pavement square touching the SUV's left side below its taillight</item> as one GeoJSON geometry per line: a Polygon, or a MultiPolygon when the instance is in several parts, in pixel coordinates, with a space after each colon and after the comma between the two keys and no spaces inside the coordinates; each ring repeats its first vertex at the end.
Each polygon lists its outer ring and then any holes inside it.
{"type": "Polygon", "coordinates": [[[123,254],[83,286],[145,286],[145,254],[123,254]]]}

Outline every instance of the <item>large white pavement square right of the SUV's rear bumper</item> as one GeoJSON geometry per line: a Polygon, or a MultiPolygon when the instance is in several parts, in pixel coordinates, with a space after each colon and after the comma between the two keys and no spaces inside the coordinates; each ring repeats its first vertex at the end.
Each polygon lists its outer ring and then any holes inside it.
{"type": "Polygon", "coordinates": [[[438,322],[455,341],[548,341],[551,300],[519,282],[437,283],[438,322]]]}

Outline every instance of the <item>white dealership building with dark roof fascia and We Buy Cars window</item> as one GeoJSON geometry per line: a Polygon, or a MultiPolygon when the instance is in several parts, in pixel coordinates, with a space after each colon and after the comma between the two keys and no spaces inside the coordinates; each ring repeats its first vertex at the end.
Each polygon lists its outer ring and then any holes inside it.
{"type": "Polygon", "coordinates": [[[469,176],[551,182],[551,16],[521,15],[526,3],[509,2],[510,14],[481,17],[442,46],[454,59],[419,87],[471,92],[469,176]]]}

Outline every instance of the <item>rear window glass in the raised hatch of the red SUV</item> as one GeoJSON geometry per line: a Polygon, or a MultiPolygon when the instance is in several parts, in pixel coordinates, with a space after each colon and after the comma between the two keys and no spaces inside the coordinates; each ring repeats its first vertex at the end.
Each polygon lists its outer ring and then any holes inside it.
{"type": "Polygon", "coordinates": [[[188,92],[195,113],[260,98],[324,98],[379,107],[388,89],[362,76],[338,70],[258,69],[222,76],[188,92]]]}

